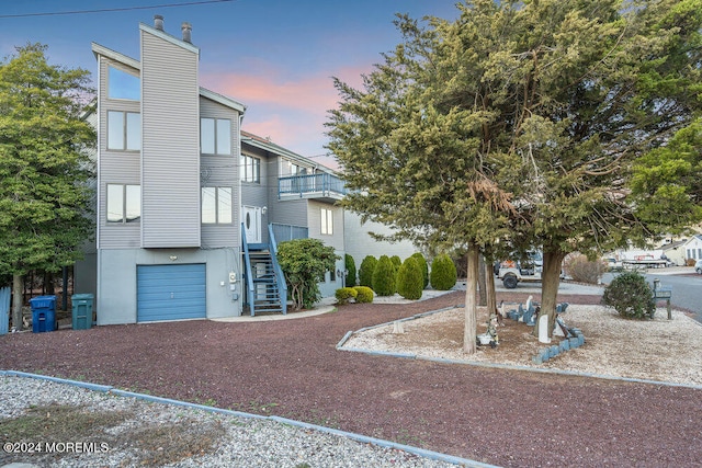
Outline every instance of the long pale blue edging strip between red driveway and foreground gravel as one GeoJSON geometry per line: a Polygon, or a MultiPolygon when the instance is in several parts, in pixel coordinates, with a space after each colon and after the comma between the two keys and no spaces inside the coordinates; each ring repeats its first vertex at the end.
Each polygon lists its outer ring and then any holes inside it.
{"type": "Polygon", "coordinates": [[[279,424],[287,424],[287,425],[292,425],[292,426],[295,426],[295,427],[315,430],[315,431],[318,431],[318,432],[321,432],[321,433],[325,433],[325,434],[347,437],[347,438],[350,438],[352,441],[360,442],[362,444],[372,444],[372,445],[376,445],[378,447],[385,447],[385,448],[393,448],[393,449],[396,449],[396,450],[403,450],[403,452],[407,452],[409,454],[414,454],[414,455],[417,455],[417,456],[420,456],[420,457],[423,457],[423,458],[429,458],[429,459],[437,460],[437,461],[445,461],[445,463],[457,465],[457,466],[475,467],[475,468],[498,468],[495,465],[487,465],[487,464],[484,464],[484,463],[480,463],[480,461],[471,460],[468,458],[455,457],[453,455],[442,454],[442,453],[433,452],[433,450],[427,450],[424,448],[414,447],[411,445],[398,444],[398,443],[395,443],[395,442],[392,442],[392,441],[385,441],[385,440],[382,440],[382,438],[370,437],[370,436],[362,435],[362,434],[356,434],[356,433],[353,433],[353,432],[346,432],[346,431],[340,431],[340,430],[337,430],[337,429],[325,427],[322,425],[310,424],[310,423],[306,423],[306,422],[302,422],[302,421],[291,420],[291,419],[287,419],[287,418],[281,418],[281,416],[274,416],[274,415],[272,415],[272,416],[263,416],[263,415],[260,415],[260,414],[245,413],[245,412],[241,412],[241,411],[225,410],[225,409],[222,409],[222,408],[214,408],[214,407],[207,407],[207,406],[204,406],[204,404],[190,403],[188,401],[173,400],[173,399],[170,399],[170,398],[162,398],[162,397],[155,397],[155,396],[151,396],[151,395],[137,393],[137,392],[127,391],[127,390],[120,390],[120,389],[116,389],[114,387],[106,386],[106,385],[90,384],[90,383],[84,383],[84,381],[79,381],[79,380],[69,380],[69,379],[63,379],[63,378],[58,378],[58,377],[44,376],[44,375],[39,375],[39,374],[30,374],[30,373],[24,373],[24,372],[19,372],[19,370],[0,370],[0,376],[35,378],[35,379],[38,379],[38,380],[53,381],[55,384],[72,385],[75,387],[81,387],[81,388],[84,388],[84,389],[88,389],[88,390],[92,390],[92,391],[100,391],[100,392],[103,392],[103,393],[111,393],[111,395],[114,395],[115,397],[135,398],[135,399],[138,399],[138,400],[148,401],[148,402],[152,402],[152,403],[171,404],[171,406],[182,407],[182,408],[192,409],[192,410],[206,411],[206,412],[211,412],[211,413],[225,414],[225,415],[231,415],[231,416],[238,416],[238,418],[254,419],[254,420],[268,420],[268,421],[275,422],[275,423],[279,423],[279,424]]]}

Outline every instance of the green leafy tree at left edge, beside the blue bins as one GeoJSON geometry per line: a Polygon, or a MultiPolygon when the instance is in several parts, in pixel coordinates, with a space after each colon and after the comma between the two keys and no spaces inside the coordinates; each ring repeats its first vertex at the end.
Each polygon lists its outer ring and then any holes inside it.
{"type": "Polygon", "coordinates": [[[18,330],[23,275],[72,264],[92,233],[88,84],[88,71],[49,65],[43,45],[0,62],[0,273],[13,275],[18,330]]]}

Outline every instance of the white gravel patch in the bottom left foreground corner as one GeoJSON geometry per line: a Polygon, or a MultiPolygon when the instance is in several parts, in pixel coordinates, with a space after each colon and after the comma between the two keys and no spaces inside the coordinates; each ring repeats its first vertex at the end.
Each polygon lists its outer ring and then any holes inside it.
{"type": "MultiPolygon", "coordinates": [[[[240,418],[192,408],[148,402],[41,379],[0,376],[0,421],[26,413],[31,407],[52,402],[69,404],[86,411],[131,411],[128,421],[103,430],[91,441],[103,442],[105,452],[67,453],[56,458],[47,454],[7,454],[0,452],[0,467],[11,463],[29,463],[52,467],[137,467],[144,466],[143,454],[125,435],[166,423],[202,426],[220,424],[223,435],[216,446],[202,455],[181,460],[172,467],[449,467],[445,461],[418,456],[396,448],[381,447],[351,438],[270,420],[240,418]],[[122,433],[122,434],[121,434],[122,433]],[[120,441],[116,436],[122,435],[120,441]]],[[[3,447],[12,434],[0,432],[3,447]]],[[[88,441],[33,441],[88,442],[88,441]]]]}

